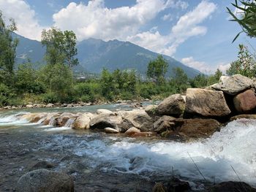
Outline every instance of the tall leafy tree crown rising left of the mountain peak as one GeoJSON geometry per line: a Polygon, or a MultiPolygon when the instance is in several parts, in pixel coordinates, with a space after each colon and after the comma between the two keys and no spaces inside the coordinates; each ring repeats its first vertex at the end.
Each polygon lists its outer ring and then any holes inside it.
{"type": "Polygon", "coordinates": [[[67,64],[69,68],[78,64],[76,36],[73,31],[50,28],[42,31],[42,45],[46,47],[45,59],[48,64],[67,64]]]}

